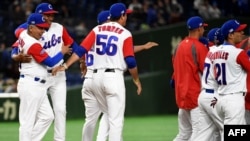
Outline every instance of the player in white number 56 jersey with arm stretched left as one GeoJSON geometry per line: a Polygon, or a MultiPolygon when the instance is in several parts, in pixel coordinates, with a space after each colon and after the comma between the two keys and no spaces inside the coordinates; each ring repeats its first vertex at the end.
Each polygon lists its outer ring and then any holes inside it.
{"type": "Polygon", "coordinates": [[[141,94],[142,88],[134,58],[132,35],[123,27],[126,24],[127,13],[131,11],[127,11],[123,3],[113,4],[109,11],[111,21],[93,28],[82,41],[83,48],[73,53],[64,67],[58,67],[53,73],[64,70],[94,46],[93,94],[101,111],[108,115],[109,141],[118,141],[122,140],[125,111],[123,73],[127,67],[137,86],[137,94],[141,94]]]}

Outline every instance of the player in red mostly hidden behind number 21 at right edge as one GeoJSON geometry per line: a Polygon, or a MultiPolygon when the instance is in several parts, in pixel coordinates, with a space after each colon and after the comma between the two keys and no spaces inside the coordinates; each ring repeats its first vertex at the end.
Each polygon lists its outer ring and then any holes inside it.
{"type": "MultiPolygon", "coordinates": [[[[236,45],[236,47],[243,49],[247,55],[250,57],[250,41],[249,37],[245,38],[242,40],[239,44],[236,45]]],[[[245,113],[245,118],[246,118],[246,123],[250,125],[250,74],[247,73],[247,94],[245,96],[245,108],[246,108],[246,113],[245,113]]]]}

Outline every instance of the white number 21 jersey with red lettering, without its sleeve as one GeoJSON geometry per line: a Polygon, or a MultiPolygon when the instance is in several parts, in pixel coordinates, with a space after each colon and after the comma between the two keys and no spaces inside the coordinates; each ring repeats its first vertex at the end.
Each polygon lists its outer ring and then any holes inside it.
{"type": "Polygon", "coordinates": [[[246,72],[237,63],[242,49],[233,45],[220,45],[212,56],[219,94],[246,92],[246,72]]]}

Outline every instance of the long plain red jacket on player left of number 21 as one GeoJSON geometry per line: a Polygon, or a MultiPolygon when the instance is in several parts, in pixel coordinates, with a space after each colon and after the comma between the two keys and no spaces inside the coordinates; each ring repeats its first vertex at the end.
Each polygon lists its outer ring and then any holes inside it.
{"type": "Polygon", "coordinates": [[[198,106],[201,75],[208,48],[196,38],[182,40],[173,56],[176,103],[179,108],[198,106]]]}

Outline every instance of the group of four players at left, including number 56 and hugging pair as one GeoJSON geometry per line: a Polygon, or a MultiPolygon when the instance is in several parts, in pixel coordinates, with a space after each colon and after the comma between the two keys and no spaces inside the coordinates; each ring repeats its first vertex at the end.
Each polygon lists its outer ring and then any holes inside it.
{"type": "Polygon", "coordinates": [[[93,140],[101,114],[97,140],[122,140],[126,99],[124,72],[129,71],[140,95],[142,86],[134,53],[158,46],[155,42],[133,44],[132,34],[125,28],[127,14],[131,12],[123,3],[101,11],[98,25],[79,45],[63,25],[53,22],[58,11],[49,3],[39,4],[35,13],[17,27],[18,39],[12,45],[11,56],[20,62],[17,85],[20,141],[41,141],[53,121],[54,140],[65,141],[65,70],[78,60],[85,77],[82,99],[86,117],[82,140],[93,140]],[[71,55],[67,61],[63,59],[65,54],[71,55]]]}

